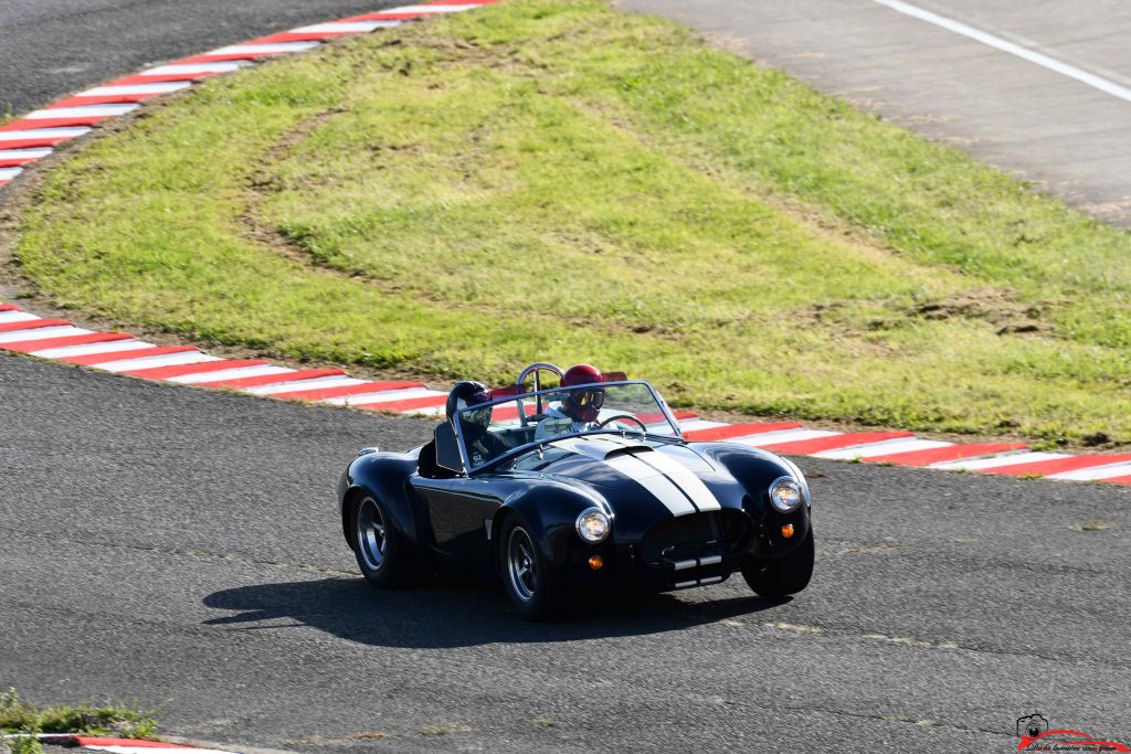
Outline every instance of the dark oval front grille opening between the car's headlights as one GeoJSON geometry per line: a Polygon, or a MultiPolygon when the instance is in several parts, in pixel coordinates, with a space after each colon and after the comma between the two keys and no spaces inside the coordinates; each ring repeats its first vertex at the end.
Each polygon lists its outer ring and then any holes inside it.
{"type": "Polygon", "coordinates": [[[693,513],[657,523],[640,541],[648,565],[670,565],[709,555],[727,555],[749,544],[751,525],[741,511],[693,513]]]}

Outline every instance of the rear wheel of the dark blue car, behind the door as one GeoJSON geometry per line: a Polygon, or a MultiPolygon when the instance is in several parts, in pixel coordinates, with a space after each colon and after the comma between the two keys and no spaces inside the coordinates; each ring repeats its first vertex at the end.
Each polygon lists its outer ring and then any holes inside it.
{"type": "Polygon", "coordinates": [[[428,581],[431,570],[392,525],[388,506],[363,495],[353,512],[354,555],[365,580],[379,589],[400,589],[428,581]]]}

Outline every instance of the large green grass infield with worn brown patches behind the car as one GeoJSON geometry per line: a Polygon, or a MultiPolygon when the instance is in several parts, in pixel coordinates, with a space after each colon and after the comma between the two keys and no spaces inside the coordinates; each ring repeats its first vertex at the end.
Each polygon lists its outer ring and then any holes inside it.
{"type": "Polygon", "coordinates": [[[1131,237],[601,0],[510,0],[209,83],[57,167],[52,301],[294,358],[1131,442],[1131,237]]]}

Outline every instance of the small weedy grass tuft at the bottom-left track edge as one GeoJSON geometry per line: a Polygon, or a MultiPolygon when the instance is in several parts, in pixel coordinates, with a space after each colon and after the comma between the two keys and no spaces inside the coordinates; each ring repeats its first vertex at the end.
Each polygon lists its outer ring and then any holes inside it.
{"type": "Polygon", "coordinates": [[[59,704],[40,708],[15,688],[0,692],[0,733],[74,733],[93,736],[152,738],[157,721],[136,707],[59,704]]]}

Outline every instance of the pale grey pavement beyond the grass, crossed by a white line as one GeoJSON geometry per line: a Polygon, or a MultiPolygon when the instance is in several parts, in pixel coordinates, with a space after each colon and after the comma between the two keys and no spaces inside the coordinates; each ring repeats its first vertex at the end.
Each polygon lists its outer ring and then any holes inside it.
{"type": "MultiPolygon", "coordinates": [[[[875,0],[618,0],[1131,227],[1131,102],[875,0]]],[[[913,6],[1131,87],[1131,5],[913,6]]]]}

